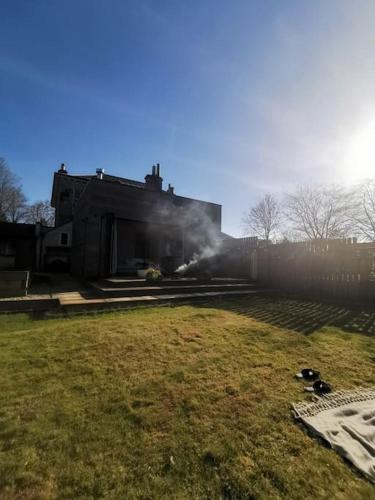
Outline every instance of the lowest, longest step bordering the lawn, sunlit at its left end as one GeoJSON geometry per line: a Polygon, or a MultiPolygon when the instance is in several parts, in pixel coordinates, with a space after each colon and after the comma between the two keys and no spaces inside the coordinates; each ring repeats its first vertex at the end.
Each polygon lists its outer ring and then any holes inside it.
{"type": "MultiPolygon", "coordinates": [[[[101,297],[87,298],[79,292],[59,295],[60,311],[62,312],[84,312],[103,309],[122,309],[127,307],[160,305],[174,302],[192,302],[214,298],[225,298],[233,296],[245,296],[262,293],[265,290],[232,290],[218,292],[196,292],[168,295],[143,295],[137,297],[101,297]]],[[[213,302],[214,304],[214,302],[213,302]]]]}

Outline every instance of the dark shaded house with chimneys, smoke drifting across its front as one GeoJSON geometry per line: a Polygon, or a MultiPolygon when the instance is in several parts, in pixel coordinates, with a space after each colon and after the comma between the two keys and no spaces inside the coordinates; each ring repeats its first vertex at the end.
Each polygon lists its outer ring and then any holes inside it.
{"type": "MultiPolygon", "coordinates": [[[[163,189],[160,165],[144,182],[55,172],[56,229],[69,227],[70,270],[100,277],[136,274],[149,265],[172,272],[221,238],[221,205],[163,189]]],[[[61,231],[60,231],[61,232],[61,231]]]]}

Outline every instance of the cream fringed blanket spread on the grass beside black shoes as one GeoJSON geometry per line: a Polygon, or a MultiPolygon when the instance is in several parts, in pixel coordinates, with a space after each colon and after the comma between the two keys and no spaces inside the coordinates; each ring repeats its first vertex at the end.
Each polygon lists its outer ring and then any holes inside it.
{"type": "Polygon", "coordinates": [[[375,387],[315,397],[293,414],[375,483],[375,387]]]}

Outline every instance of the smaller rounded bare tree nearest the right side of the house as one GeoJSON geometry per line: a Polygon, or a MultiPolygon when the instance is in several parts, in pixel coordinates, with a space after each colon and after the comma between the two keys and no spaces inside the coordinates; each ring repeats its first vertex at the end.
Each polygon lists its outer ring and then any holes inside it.
{"type": "Polygon", "coordinates": [[[269,241],[280,225],[280,208],[276,198],[267,193],[243,217],[246,232],[269,241]]]}

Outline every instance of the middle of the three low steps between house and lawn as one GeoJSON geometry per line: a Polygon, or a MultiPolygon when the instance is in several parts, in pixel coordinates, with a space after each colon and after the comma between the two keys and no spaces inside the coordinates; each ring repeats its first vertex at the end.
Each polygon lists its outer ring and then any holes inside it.
{"type": "Polygon", "coordinates": [[[166,294],[182,294],[182,293],[199,293],[199,292],[225,292],[231,290],[251,290],[254,288],[252,283],[194,283],[183,284],[178,286],[165,285],[162,282],[160,285],[147,286],[128,286],[128,287],[103,287],[97,283],[91,283],[93,293],[104,297],[136,297],[140,295],[166,295],[166,294]]]}

